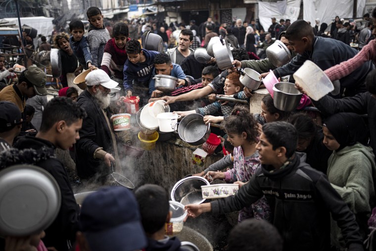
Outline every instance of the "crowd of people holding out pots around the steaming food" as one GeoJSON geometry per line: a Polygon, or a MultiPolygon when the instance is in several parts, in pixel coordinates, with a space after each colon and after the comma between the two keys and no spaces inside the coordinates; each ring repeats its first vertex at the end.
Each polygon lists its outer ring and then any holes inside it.
{"type": "MultiPolygon", "coordinates": [[[[72,20],[70,35],[55,32],[52,38],[61,56],[60,97],[47,101],[46,73],[34,65],[11,83],[14,69],[6,69],[5,55],[0,55],[0,170],[37,165],[53,176],[61,192],[59,213],[49,226],[30,236],[0,237],[0,250],[187,250],[178,238],[165,235],[171,218],[165,188],[144,184],[132,193],[105,187],[81,206],[75,201],[72,182],[108,185],[113,168],[122,169],[118,146],[135,143],[130,131],[113,130],[110,117],[124,112],[122,101],[132,96],[139,96],[141,105],[165,100],[182,117],[199,113],[205,123],[221,123],[213,131],[226,138],[229,154],[194,175],[239,184],[239,191],[186,209],[189,218],[239,211],[226,250],[376,247],[376,8],[372,19],[364,16],[369,20],[358,35],[353,20],[343,23],[336,17],[331,38],[325,32],[328,25],[319,19],[312,27],[304,20],[277,23],[272,18],[265,32],[258,20],[219,24],[209,17],[199,26],[194,20],[187,26],[148,21],[111,25],[103,23],[97,7],[90,7],[87,17],[87,35],[84,23],[72,20]],[[349,46],[349,29],[354,29],[360,51],[349,46]],[[149,31],[161,36],[165,52],[142,48],[142,36],[149,31]],[[200,63],[194,56],[194,49],[206,48],[220,35],[233,48],[234,67],[225,70],[215,58],[200,63]],[[265,58],[276,39],[292,56],[281,67],[265,58]],[[310,99],[293,79],[306,60],[338,83],[320,100],[310,99]],[[286,112],[269,94],[262,98],[260,113],[250,113],[255,90],[241,84],[238,67],[251,68],[261,77],[272,71],[282,81],[295,83],[305,94],[304,102],[286,112]],[[83,70],[89,71],[84,91],[71,83],[83,70]],[[158,74],[177,78],[176,90],[156,90],[153,77],[158,74]],[[122,95],[111,101],[115,87],[122,95]],[[221,102],[217,95],[235,101],[221,102]]],[[[38,48],[50,50],[46,37],[41,36],[38,48]]]]}

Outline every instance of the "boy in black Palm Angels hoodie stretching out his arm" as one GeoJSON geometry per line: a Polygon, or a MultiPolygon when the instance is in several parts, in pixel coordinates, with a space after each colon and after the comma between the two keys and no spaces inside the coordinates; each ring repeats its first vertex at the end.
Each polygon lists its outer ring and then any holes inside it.
{"type": "Polygon", "coordinates": [[[295,152],[296,129],[286,122],[267,123],[256,149],[261,168],[235,196],[210,203],[189,204],[188,216],[203,212],[223,214],[239,210],[265,196],[272,210],[271,222],[284,241],[285,251],[330,250],[330,214],[342,230],[349,251],[363,251],[354,214],[331,187],[328,178],[295,152]]]}

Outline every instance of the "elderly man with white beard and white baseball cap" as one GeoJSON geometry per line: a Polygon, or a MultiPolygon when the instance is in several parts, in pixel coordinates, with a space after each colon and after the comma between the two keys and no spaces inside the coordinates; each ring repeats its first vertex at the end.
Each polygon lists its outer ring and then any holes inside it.
{"type": "Polygon", "coordinates": [[[93,70],[86,78],[87,89],[77,102],[88,116],[83,120],[80,139],[76,143],[76,168],[83,180],[105,182],[112,172],[111,162],[121,168],[116,136],[111,126],[110,89],[118,83],[103,70],[93,70]]]}

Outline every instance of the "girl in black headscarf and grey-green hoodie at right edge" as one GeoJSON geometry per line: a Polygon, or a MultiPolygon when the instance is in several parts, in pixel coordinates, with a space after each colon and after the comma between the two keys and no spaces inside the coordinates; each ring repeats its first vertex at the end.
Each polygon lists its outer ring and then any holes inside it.
{"type": "MultiPolygon", "coordinates": [[[[355,113],[337,113],[324,124],[324,145],[333,153],[328,160],[328,179],[355,214],[364,238],[368,234],[367,220],[375,206],[375,155],[366,147],[367,126],[355,113]]],[[[331,243],[345,248],[341,231],[331,220],[331,243]]]]}

